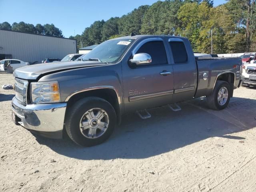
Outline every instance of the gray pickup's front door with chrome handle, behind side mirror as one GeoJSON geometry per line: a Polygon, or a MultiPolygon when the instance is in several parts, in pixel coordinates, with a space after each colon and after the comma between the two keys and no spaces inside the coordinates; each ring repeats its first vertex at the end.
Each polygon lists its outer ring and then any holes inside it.
{"type": "MultiPolygon", "coordinates": [[[[170,103],[173,94],[173,74],[167,44],[162,38],[142,40],[132,50],[132,56],[147,53],[152,64],[131,67],[122,62],[125,111],[151,108],[170,103]],[[168,75],[162,72],[169,72],[168,75]]],[[[131,56],[131,57],[132,57],[131,56]]]]}

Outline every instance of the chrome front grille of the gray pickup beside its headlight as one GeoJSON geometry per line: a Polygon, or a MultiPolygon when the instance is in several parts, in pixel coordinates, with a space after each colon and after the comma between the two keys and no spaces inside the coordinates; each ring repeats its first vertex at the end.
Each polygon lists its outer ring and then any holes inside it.
{"type": "Polygon", "coordinates": [[[15,97],[21,102],[21,104],[26,105],[26,91],[28,87],[28,81],[15,78],[14,91],[15,97]]]}

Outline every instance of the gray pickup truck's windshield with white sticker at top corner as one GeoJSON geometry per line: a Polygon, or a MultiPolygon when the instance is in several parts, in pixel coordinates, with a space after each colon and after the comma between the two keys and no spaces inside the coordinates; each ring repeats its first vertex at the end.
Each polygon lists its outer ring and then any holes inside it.
{"type": "Polygon", "coordinates": [[[123,56],[134,39],[116,39],[105,41],[82,57],[83,60],[99,60],[116,63],[123,56]]]}

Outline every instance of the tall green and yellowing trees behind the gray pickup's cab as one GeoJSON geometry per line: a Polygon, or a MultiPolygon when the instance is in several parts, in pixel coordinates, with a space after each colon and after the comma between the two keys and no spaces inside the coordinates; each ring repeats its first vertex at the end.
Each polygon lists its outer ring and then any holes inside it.
{"type": "Polygon", "coordinates": [[[78,48],[119,36],[170,34],[184,36],[196,52],[250,52],[256,49],[255,0],[227,0],[213,7],[212,0],[165,0],[143,5],[122,17],[95,21],[77,40],[78,48]]]}

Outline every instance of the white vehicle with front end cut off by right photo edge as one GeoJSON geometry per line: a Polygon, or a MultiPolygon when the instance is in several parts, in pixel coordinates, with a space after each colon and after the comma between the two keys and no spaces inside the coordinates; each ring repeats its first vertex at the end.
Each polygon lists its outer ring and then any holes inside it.
{"type": "Polygon", "coordinates": [[[256,61],[252,64],[247,64],[243,67],[242,86],[256,86],[256,61]]]}

